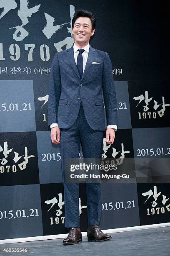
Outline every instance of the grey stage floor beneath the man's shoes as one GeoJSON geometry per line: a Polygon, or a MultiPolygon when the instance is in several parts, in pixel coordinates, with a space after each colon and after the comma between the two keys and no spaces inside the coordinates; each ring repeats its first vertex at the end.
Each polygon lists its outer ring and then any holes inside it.
{"type": "Polygon", "coordinates": [[[105,242],[87,242],[63,246],[63,239],[0,244],[0,256],[37,255],[37,256],[170,256],[170,227],[150,228],[112,233],[112,239],[105,242]],[[2,248],[28,248],[29,253],[2,253],[2,248]]]}

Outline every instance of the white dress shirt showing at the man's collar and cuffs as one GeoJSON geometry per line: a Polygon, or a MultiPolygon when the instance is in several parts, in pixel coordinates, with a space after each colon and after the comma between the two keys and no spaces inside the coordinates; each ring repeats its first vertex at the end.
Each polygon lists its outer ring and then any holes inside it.
{"type": "MultiPolygon", "coordinates": [[[[85,70],[85,65],[86,65],[87,58],[88,58],[89,48],[90,48],[90,44],[87,44],[85,47],[81,48],[81,49],[85,50],[82,53],[82,57],[83,57],[83,72],[85,70]]],[[[75,58],[75,63],[76,64],[77,64],[77,56],[79,54],[78,49],[80,49],[80,48],[76,44],[74,44],[73,45],[73,50],[74,50],[74,58],[75,58]]],[[[58,124],[57,123],[52,123],[50,125],[50,128],[52,129],[53,127],[58,127],[58,124]]],[[[117,125],[107,125],[107,128],[113,128],[115,131],[117,131],[117,125]]]]}

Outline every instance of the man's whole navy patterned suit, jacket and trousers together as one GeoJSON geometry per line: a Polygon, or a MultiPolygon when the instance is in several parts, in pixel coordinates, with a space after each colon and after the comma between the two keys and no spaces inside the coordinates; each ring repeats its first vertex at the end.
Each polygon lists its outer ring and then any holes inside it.
{"type": "MultiPolygon", "coordinates": [[[[80,143],[84,158],[101,159],[106,126],[117,125],[112,64],[107,53],[90,46],[81,79],[74,59],[73,46],[55,54],[50,73],[48,115],[49,125],[58,123],[61,131],[65,227],[80,227],[79,184],[66,183],[65,161],[79,157],[80,143]],[[105,124],[102,90],[107,124],[105,124]]],[[[88,225],[99,225],[102,212],[101,184],[87,183],[86,195],[88,225]]]]}

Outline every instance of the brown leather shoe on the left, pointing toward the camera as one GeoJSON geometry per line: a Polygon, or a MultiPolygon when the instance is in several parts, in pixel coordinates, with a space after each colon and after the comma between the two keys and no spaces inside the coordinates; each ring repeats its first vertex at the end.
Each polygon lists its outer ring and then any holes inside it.
{"type": "Polygon", "coordinates": [[[70,245],[82,242],[82,233],[80,228],[70,228],[67,238],[62,241],[63,245],[70,245]]]}

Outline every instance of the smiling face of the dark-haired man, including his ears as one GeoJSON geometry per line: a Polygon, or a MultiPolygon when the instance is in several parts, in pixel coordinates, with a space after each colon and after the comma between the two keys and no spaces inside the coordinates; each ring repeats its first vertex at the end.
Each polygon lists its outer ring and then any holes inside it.
{"type": "Polygon", "coordinates": [[[80,44],[88,44],[90,36],[95,33],[95,29],[92,30],[92,23],[90,18],[79,17],[75,20],[74,27],[72,29],[75,41],[80,44]]]}

